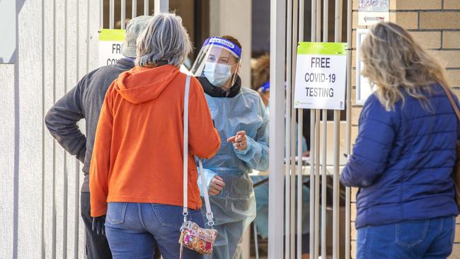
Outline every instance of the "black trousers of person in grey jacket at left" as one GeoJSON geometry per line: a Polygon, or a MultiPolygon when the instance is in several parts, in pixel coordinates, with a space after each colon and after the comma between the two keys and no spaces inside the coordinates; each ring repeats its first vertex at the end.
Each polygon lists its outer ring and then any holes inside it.
{"type": "Polygon", "coordinates": [[[99,236],[93,231],[93,218],[91,217],[91,205],[89,203],[89,192],[81,192],[81,217],[85,223],[86,232],[86,256],[88,259],[111,259],[112,253],[108,246],[107,238],[99,236]]]}

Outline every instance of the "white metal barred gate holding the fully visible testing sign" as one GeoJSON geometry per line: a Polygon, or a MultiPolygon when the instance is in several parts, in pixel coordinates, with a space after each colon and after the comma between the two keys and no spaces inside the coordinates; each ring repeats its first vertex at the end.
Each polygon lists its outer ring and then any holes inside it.
{"type": "MultiPolygon", "coordinates": [[[[311,0],[311,38],[304,37],[304,0],[272,0],[270,7],[270,83],[284,84],[286,91],[277,87],[270,89],[270,192],[269,192],[269,258],[301,258],[302,246],[302,187],[304,178],[309,178],[309,255],[310,258],[350,258],[350,188],[345,189],[345,217],[340,220],[340,151],[350,154],[350,111],[351,111],[351,38],[352,1],[335,0],[334,38],[328,38],[328,0],[311,0]],[[341,42],[343,8],[346,5],[347,26],[347,85],[346,120],[340,122],[340,111],[333,111],[333,132],[328,134],[328,110],[311,110],[310,113],[310,161],[302,166],[296,154],[302,154],[303,116],[301,109],[294,109],[294,88],[296,74],[297,42],[341,42]],[[323,25],[321,27],[321,25],[323,25]],[[321,30],[322,29],[322,30],[321,30]],[[323,34],[321,37],[321,33],[323,34]],[[284,53],[286,54],[284,56],[284,53]],[[285,63],[284,63],[285,62],[285,63]],[[284,67],[286,64],[286,67],[284,67]],[[286,75],[284,76],[284,71],[286,75]],[[285,95],[285,96],[284,96],[285,95]],[[284,110],[285,121],[284,121],[284,110]],[[299,122],[298,124],[296,123],[299,122]],[[343,127],[340,127],[343,125],[343,127]],[[345,138],[340,150],[340,129],[345,138]],[[284,134],[285,133],[285,134],[284,134]],[[328,136],[332,135],[332,146],[328,146],[328,136]],[[296,150],[297,146],[297,150],[296,150]],[[329,149],[332,152],[328,153],[329,149]],[[284,156],[284,154],[285,156],[284,156]],[[329,154],[329,155],[328,155],[329,154]],[[332,160],[332,163],[328,163],[332,160]],[[284,172],[280,173],[280,172],[284,172]],[[285,179],[283,179],[285,178],[285,179]],[[332,178],[332,226],[328,221],[326,208],[328,178],[332,178]],[[285,183],[285,188],[283,186],[285,183]],[[297,195],[296,195],[297,192],[297,195]],[[283,199],[284,195],[284,199],[283,199]],[[297,196],[297,198],[296,198],[297,196]],[[321,197],[321,206],[320,206],[321,197]],[[284,206],[284,212],[280,209],[284,206]],[[283,214],[284,213],[284,214],[283,214]],[[284,219],[281,221],[280,219],[284,219]],[[345,228],[343,228],[345,224],[345,228]],[[345,236],[340,239],[340,228],[345,236]],[[284,228],[284,231],[283,231],[284,228]],[[327,251],[327,230],[332,229],[332,253],[327,251]],[[283,236],[285,236],[283,241],[283,236]],[[320,240],[321,237],[321,240],[320,240]],[[345,240],[343,240],[345,239],[345,240]],[[345,243],[345,251],[340,244],[345,243]],[[321,250],[319,249],[321,246],[321,250]],[[284,248],[284,249],[283,249],[284,248]]],[[[345,64],[344,64],[345,66],[345,64]]],[[[330,128],[329,127],[329,128],[330,128]]],[[[329,150],[330,151],[330,150],[329,150]]]]}

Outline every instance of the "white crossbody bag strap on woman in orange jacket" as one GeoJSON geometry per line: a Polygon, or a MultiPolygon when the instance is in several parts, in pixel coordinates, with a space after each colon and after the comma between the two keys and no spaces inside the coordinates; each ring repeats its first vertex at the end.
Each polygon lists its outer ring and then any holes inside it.
{"type": "MultiPolygon", "coordinates": [[[[188,99],[189,99],[189,93],[190,93],[190,76],[187,76],[187,79],[185,80],[185,95],[184,95],[184,149],[183,149],[183,162],[184,162],[183,164],[183,173],[184,173],[183,216],[184,216],[184,221],[186,221],[186,217],[188,215],[188,99]]],[[[198,163],[200,165],[200,169],[198,170],[198,173],[200,173],[202,190],[203,190],[203,193],[205,194],[207,224],[209,226],[212,226],[214,225],[214,221],[212,221],[211,205],[209,204],[209,195],[207,194],[205,175],[203,175],[202,173],[203,164],[200,158],[198,158],[198,163]]]]}

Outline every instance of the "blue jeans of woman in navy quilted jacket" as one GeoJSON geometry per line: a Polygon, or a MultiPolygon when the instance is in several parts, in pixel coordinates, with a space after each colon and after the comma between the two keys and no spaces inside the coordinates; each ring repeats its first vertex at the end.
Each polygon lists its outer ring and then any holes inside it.
{"type": "Polygon", "coordinates": [[[447,258],[452,253],[455,217],[401,221],[357,229],[357,258],[447,258]]]}

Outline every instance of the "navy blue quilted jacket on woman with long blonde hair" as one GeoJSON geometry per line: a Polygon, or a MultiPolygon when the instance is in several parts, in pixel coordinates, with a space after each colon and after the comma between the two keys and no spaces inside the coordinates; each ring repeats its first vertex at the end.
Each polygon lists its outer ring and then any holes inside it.
{"type": "Polygon", "coordinates": [[[387,112],[370,96],[350,161],[340,174],[345,186],[359,187],[356,227],[458,214],[454,200],[456,140],[460,124],[439,84],[431,111],[406,96],[387,112]]]}

